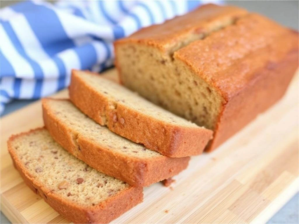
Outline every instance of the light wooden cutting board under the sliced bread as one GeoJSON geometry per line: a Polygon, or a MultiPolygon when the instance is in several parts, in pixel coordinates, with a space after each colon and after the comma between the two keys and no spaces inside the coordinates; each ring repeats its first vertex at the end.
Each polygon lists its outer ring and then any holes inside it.
{"type": "MultiPolygon", "coordinates": [[[[117,79],[115,70],[105,76],[117,79]]],[[[13,223],[69,223],[24,184],[7,152],[11,134],[43,125],[41,111],[37,101],[1,119],[1,210],[13,223]]],[[[298,76],[279,103],[174,179],[144,188],[144,202],[112,223],[266,222],[298,191],[298,76]]]]}

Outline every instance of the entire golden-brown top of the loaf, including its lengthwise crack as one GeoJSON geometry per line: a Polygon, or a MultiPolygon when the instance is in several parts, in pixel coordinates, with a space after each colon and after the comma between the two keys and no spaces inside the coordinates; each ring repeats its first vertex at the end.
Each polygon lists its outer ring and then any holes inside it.
{"type": "Polygon", "coordinates": [[[207,4],[121,39],[161,52],[163,64],[198,75],[228,101],[259,79],[263,68],[298,55],[298,32],[238,7],[207,4]]]}

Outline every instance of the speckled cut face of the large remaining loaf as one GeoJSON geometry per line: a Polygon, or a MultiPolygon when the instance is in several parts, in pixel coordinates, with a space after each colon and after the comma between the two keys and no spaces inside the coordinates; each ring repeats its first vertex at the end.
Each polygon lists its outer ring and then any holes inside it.
{"type": "Polygon", "coordinates": [[[182,62],[140,44],[116,51],[123,85],[199,126],[216,127],[222,97],[182,62]]]}

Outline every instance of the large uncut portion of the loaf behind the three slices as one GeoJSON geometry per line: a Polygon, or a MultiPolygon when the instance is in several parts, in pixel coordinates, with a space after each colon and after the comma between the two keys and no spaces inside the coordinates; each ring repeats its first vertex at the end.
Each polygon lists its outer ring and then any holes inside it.
{"type": "Polygon", "coordinates": [[[232,6],[204,5],[115,42],[120,81],[214,131],[213,150],[280,99],[298,33],[232,6]]]}

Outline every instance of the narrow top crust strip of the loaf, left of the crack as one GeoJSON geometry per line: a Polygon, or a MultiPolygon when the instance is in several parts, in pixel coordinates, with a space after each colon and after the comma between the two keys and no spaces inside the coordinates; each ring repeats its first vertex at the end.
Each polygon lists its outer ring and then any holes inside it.
{"type": "Polygon", "coordinates": [[[136,42],[165,51],[175,47],[177,42],[187,36],[210,33],[246,14],[246,10],[238,7],[206,4],[184,16],[176,16],[163,24],[138,30],[127,38],[117,40],[115,44],[136,42]]]}

